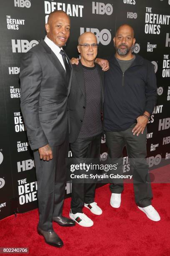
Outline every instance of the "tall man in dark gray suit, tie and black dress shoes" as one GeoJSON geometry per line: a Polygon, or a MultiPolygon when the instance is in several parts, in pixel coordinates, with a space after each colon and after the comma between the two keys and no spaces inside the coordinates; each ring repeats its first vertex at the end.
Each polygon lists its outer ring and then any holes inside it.
{"type": "Polygon", "coordinates": [[[37,231],[45,242],[61,247],[52,221],[75,225],[62,216],[68,152],[67,97],[72,66],[62,46],[70,36],[70,18],[63,11],[50,13],[47,36],[28,51],[20,66],[21,110],[34,153],[40,220],[37,231]]]}

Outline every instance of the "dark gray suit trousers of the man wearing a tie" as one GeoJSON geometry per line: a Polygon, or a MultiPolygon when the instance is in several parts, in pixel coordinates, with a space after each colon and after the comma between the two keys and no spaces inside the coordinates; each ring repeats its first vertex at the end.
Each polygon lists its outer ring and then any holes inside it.
{"type": "Polygon", "coordinates": [[[34,151],[37,197],[39,208],[38,226],[44,231],[52,231],[52,217],[62,215],[65,197],[66,165],[68,156],[68,134],[60,146],[51,147],[53,159],[40,160],[38,150],[34,151]]]}

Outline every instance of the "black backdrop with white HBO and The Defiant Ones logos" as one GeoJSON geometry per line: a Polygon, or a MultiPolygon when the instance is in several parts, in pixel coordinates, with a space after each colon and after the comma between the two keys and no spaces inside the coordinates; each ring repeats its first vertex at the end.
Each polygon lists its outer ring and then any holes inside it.
{"type": "MultiPolygon", "coordinates": [[[[148,164],[170,163],[170,0],[1,0],[0,1],[0,219],[37,207],[35,164],[20,110],[20,59],[45,37],[50,12],[64,10],[71,20],[68,56],[77,57],[77,39],[91,31],[98,57],[114,52],[116,29],[135,30],[134,52],[155,66],[158,102],[148,122],[148,164]]],[[[69,152],[71,156],[71,152],[69,152]]],[[[101,157],[107,157],[105,140],[101,157]]],[[[126,151],[123,172],[130,169],[126,151]]],[[[65,195],[70,196],[67,179],[65,195]]]]}

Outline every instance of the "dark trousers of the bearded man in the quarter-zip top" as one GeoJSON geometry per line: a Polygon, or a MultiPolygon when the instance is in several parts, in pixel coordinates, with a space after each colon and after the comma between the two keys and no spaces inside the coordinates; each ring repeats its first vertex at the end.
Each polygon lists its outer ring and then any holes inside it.
{"type": "MultiPolygon", "coordinates": [[[[133,124],[125,131],[106,132],[106,145],[110,158],[122,159],[122,150],[126,145],[128,157],[130,160],[130,169],[133,169],[133,188],[135,193],[135,202],[140,207],[151,205],[153,197],[152,189],[148,181],[148,164],[145,157],[147,156],[146,139],[147,128],[137,136],[133,135],[133,124]]],[[[120,194],[123,191],[123,181],[120,184],[110,184],[112,193],[120,194]]]]}

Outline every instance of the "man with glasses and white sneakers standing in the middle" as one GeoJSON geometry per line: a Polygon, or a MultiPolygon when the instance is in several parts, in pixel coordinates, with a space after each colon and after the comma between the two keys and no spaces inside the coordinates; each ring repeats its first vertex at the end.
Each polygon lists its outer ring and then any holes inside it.
{"type": "MultiPolygon", "coordinates": [[[[69,95],[70,147],[74,159],[100,159],[104,75],[94,64],[98,46],[96,36],[83,33],[78,44],[81,59],[78,65],[72,66],[69,95]]],[[[72,183],[70,218],[83,227],[92,226],[93,221],[82,212],[82,207],[96,215],[102,214],[94,197],[95,184],[72,183]]]]}

